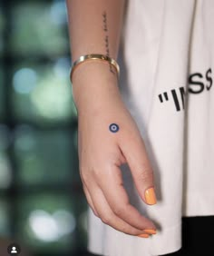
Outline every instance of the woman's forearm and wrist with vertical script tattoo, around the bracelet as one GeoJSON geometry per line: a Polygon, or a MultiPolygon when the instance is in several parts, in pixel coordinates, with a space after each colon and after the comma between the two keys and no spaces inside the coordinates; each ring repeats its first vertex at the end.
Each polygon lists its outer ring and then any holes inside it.
{"type": "MultiPolygon", "coordinates": [[[[117,60],[124,4],[125,0],[67,0],[73,62],[84,54],[106,54],[117,60]]],[[[101,61],[86,61],[73,72],[75,93],[80,94],[75,87],[79,87],[83,79],[92,81],[94,77],[100,82],[106,79],[112,79],[114,83],[117,81],[116,71],[111,65],[101,61]]]]}

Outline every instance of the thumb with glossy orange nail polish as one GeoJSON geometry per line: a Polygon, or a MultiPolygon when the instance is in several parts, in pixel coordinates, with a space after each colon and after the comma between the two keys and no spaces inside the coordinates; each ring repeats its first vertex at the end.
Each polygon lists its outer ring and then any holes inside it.
{"type": "Polygon", "coordinates": [[[121,150],[131,169],[131,175],[141,199],[147,204],[157,202],[153,171],[141,135],[130,136],[122,141],[121,150]]]}

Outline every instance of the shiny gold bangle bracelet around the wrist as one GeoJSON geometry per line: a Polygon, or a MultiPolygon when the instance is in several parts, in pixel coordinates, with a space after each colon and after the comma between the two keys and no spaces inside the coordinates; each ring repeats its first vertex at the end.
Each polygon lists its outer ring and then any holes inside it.
{"type": "Polygon", "coordinates": [[[120,66],[119,64],[112,59],[111,57],[107,56],[107,55],[103,55],[103,54],[86,54],[86,55],[82,55],[79,57],[79,59],[77,59],[73,65],[72,65],[72,69],[71,69],[71,74],[70,74],[70,80],[72,82],[72,76],[73,76],[73,71],[74,69],[79,65],[79,64],[83,64],[84,61],[87,60],[101,60],[101,61],[106,61],[109,64],[112,64],[112,66],[115,68],[115,70],[117,71],[118,76],[120,75],[120,66]]]}

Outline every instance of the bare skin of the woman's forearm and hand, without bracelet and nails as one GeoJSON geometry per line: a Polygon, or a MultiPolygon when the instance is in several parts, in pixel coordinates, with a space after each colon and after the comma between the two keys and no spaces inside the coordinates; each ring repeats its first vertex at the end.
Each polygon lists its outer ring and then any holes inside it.
{"type": "MultiPolygon", "coordinates": [[[[117,59],[124,6],[123,0],[67,0],[73,61],[92,53],[117,59]]],[[[115,69],[102,61],[80,64],[73,72],[73,100],[78,113],[80,175],[92,212],[130,235],[156,230],[131,205],[122,184],[120,166],[128,163],[145,202],[144,192],[154,187],[154,179],[139,129],[122,102],[115,69]],[[109,131],[111,123],[119,125],[117,133],[109,131]]]]}

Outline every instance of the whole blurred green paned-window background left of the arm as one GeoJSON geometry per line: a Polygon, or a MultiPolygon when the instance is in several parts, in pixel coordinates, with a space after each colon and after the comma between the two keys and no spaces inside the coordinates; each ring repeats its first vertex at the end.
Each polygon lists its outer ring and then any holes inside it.
{"type": "Polygon", "coordinates": [[[0,0],[0,255],[87,255],[64,0],[0,0]]]}

